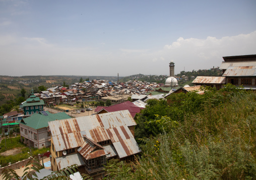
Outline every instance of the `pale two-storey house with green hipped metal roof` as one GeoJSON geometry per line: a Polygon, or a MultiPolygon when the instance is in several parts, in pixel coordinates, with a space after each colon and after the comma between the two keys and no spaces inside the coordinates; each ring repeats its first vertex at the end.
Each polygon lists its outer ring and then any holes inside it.
{"type": "Polygon", "coordinates": [[[48,122],[69,118],[71,117],[65,112],[51,114],[48,111],[40,111],[23,118],[19,122],[21,141],[34,148],[48,147],[51,145],[48,122]]]}

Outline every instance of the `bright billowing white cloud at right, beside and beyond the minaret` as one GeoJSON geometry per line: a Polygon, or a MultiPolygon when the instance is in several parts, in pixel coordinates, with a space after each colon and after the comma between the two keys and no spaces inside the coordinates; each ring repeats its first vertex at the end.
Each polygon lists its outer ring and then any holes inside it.
{"type": "Polygon", "coordinates": [[[191,71],[220,66],[224,56],[256,54],[255,47],[256,31],[220,39],[210,36],[206,39],[180,37],[170,45],[165,45],[158,54],[173,60],[178,69],[175,73],[178,73],[183,67],[191,71]]]}

